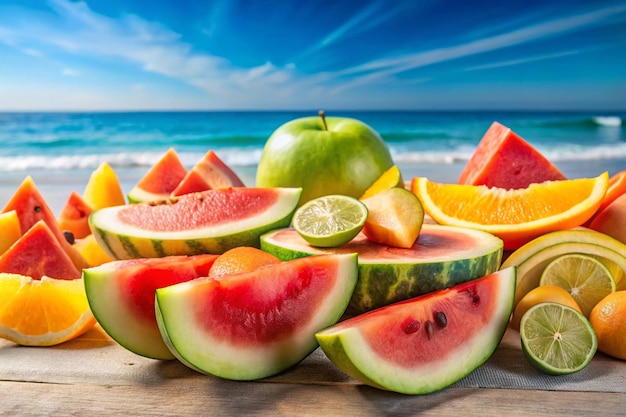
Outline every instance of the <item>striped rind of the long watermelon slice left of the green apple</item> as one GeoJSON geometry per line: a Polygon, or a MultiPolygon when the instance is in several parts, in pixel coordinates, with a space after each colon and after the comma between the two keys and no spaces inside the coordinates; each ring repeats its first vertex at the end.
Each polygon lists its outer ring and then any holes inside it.
{"type": "Polygon", "coordinates": [[[96,210],[90,215],[89,224],[98,244],[113,259],[221,254],[238,246],[259,247],[261,235],[290,224],[302,190],[274,190],[279,197],[264,213],[202,229],[155,232],[131,227],[119,222],[116,216],[127,206],[96,210]]]}

